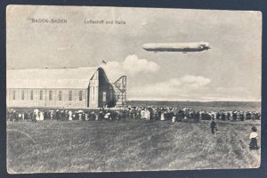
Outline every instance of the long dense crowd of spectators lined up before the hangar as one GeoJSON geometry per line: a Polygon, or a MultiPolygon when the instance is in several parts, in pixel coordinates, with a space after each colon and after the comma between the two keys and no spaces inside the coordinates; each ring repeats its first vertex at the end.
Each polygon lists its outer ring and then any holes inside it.
{"type": "Polygon", "coordinates": [[[239,110],[220,110],[206,111],[205,109],[191,108],[158,108],[158,107],[125,107],[122,109],[99,109],[99,110],[75,110],[75,109],[34,109],[32,111],[7,110],[7,119],[9,121],[19,121],[31,119],[38,120],[120,120],[120,119],[145,119],[145,120],[170,120],[172,122],[199,120],[229,120],[244,121],[247,119],[260,120],[261,114],[258,111],[239,111],[239,110]]]}

